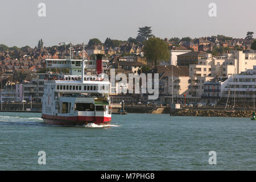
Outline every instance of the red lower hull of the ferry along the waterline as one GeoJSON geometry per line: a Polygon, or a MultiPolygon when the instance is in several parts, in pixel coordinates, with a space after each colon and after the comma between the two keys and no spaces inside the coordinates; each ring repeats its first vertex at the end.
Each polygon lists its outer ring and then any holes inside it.
{"type": "Polygon", "coordinates": [[[111,117],[85,117],[85,116],[70,116],[61,117],[42,114],[44,123],[50,125],[87,125],[88,123],[94,123],[96,125],[109,125],[111,117]]]}

